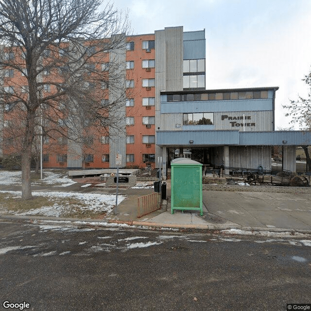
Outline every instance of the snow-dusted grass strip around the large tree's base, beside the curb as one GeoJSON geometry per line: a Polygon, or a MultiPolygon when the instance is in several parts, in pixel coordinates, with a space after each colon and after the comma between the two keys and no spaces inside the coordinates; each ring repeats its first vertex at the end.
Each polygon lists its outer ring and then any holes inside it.
{"type": "MultiPolygon", "coordinates": [[[[21,197],[21,191],[0,191],[0,193],[8,193],[12,197],[21,197]]],[[[55,203],[52,206],[39,207],[23,211],[15,211],[16,215],[43,215],[50,217],[60,217],[66,213],[72,213],[74,209],[79,212],[93,213],[109,213],[116,203],[116,196],[113,194],[99,193],[78,193],[78,192],[41,192],[33,191],[33,196],[48,197],[50,201],[55,203]],[[60,200],[61,199],[61,200],[60,200]],[[74,200],[74,202],[73,202],[74,200]]],[[[120,204],[126,196],[119,195],[118,203],[120,204]]]]}

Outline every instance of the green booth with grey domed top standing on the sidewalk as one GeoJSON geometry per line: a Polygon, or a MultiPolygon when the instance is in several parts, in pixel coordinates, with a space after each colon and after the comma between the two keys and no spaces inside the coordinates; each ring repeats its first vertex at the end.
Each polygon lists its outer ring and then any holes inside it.
{"type": "Polygon", "coordinates": [[[202,216],[202,164],[181,157],[171,162],[171,170],[171,213],[199,210],[202,216]]]}

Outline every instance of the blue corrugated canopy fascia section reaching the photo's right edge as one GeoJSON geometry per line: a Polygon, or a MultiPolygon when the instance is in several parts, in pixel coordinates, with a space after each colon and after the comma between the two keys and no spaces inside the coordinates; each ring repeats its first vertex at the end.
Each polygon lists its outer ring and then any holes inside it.
{"type": "Polygon", "coordinates": [[[311,145],[311,132],[275,131],[275,132],[240,132],[240,145],[299,146],[311,145]],[[283,143],[283,141],[287,141],[283,143]]]}

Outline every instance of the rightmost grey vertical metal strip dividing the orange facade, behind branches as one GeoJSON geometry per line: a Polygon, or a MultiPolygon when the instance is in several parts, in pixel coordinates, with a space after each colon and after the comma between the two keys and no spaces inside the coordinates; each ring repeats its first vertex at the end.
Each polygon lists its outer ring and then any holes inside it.
{"type": "MultiPolygon", "coordinates": [[[[113,62],[118,62],[120,64],[125,64],[125,35],[123,36],[124,45],[121,49],[118,51],[115,51],[114,53],[109,54],[109,59],[113,62]]],[[[122,87],[125,87],[125,67],[122,68],[122,66],[118,66],[120,70],[120,81],[118,81],[118,86],[113,87],[113,89],[109,88],[109,100],[114,101],[121,98],[123,90],[122,87]],[[124,72],[121,72],[122,69],[124,72]]],[[[114,81],[114,84],[116,82],[114,81]]],[[[119,111],[120,115],[120,125],[123,130],[115,132],[115,129],[112,127],[109,127],[109,136],[112,138],[109,142],[109,167],[117,167],[116,165],[116,155],[117,153],[120,153],[122,155],[122,164],[121,167],[126,165],[126,130],[125,130],[125,98],[124,98],[124,106],[120,108],[119,111]]]]}

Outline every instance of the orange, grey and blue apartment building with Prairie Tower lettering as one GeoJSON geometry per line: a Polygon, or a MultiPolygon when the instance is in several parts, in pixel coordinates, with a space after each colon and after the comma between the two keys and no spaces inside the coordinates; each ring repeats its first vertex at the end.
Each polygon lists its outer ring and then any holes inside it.
{"type": "MultiPolygon", "coordinates": [[[[121,155],[121,167],[151,165],[162,168],[164,176],[175,157],[213,167],[270,170],[271,148],[277,145],[283,147],[284,169],[295,171],[295,146],[311,145],[311,133],[275,131],[278,87],[206,89],[205,30],[169,27],[123,40],[122,48],[113,52],[124,65],[120,73],[124,89],[119,92],[125,96],[117,111],[121,130],[93,129],[84,145],[66,137],[46,137],[44,167],[115,168],[116,156],[121,155]]],[[[21,56],[7,53],[6,57],[21,56]]],[[[91,65],[101,68],[104,76],[110,57],[91,65]]],[[[49,74],[43,75],[43,81],[49,74]]],[[[22,86],[23,79],[22,72],[7,70],[2,83],[6,88],[10,87],[6,81],[22,86]]],[[[52,88],[46,85],[44,91],[53,92],[52,88]]],[[[97,92],[104,103],[118,96],[109,81],[97,92]]],[[[1,138],[9,122],[1,114],[1,138]]],[[[58,122],[61,125],[63,120],[58,122]]],[[[4,147],[4,155],[13,152],[4,147]]]]}

